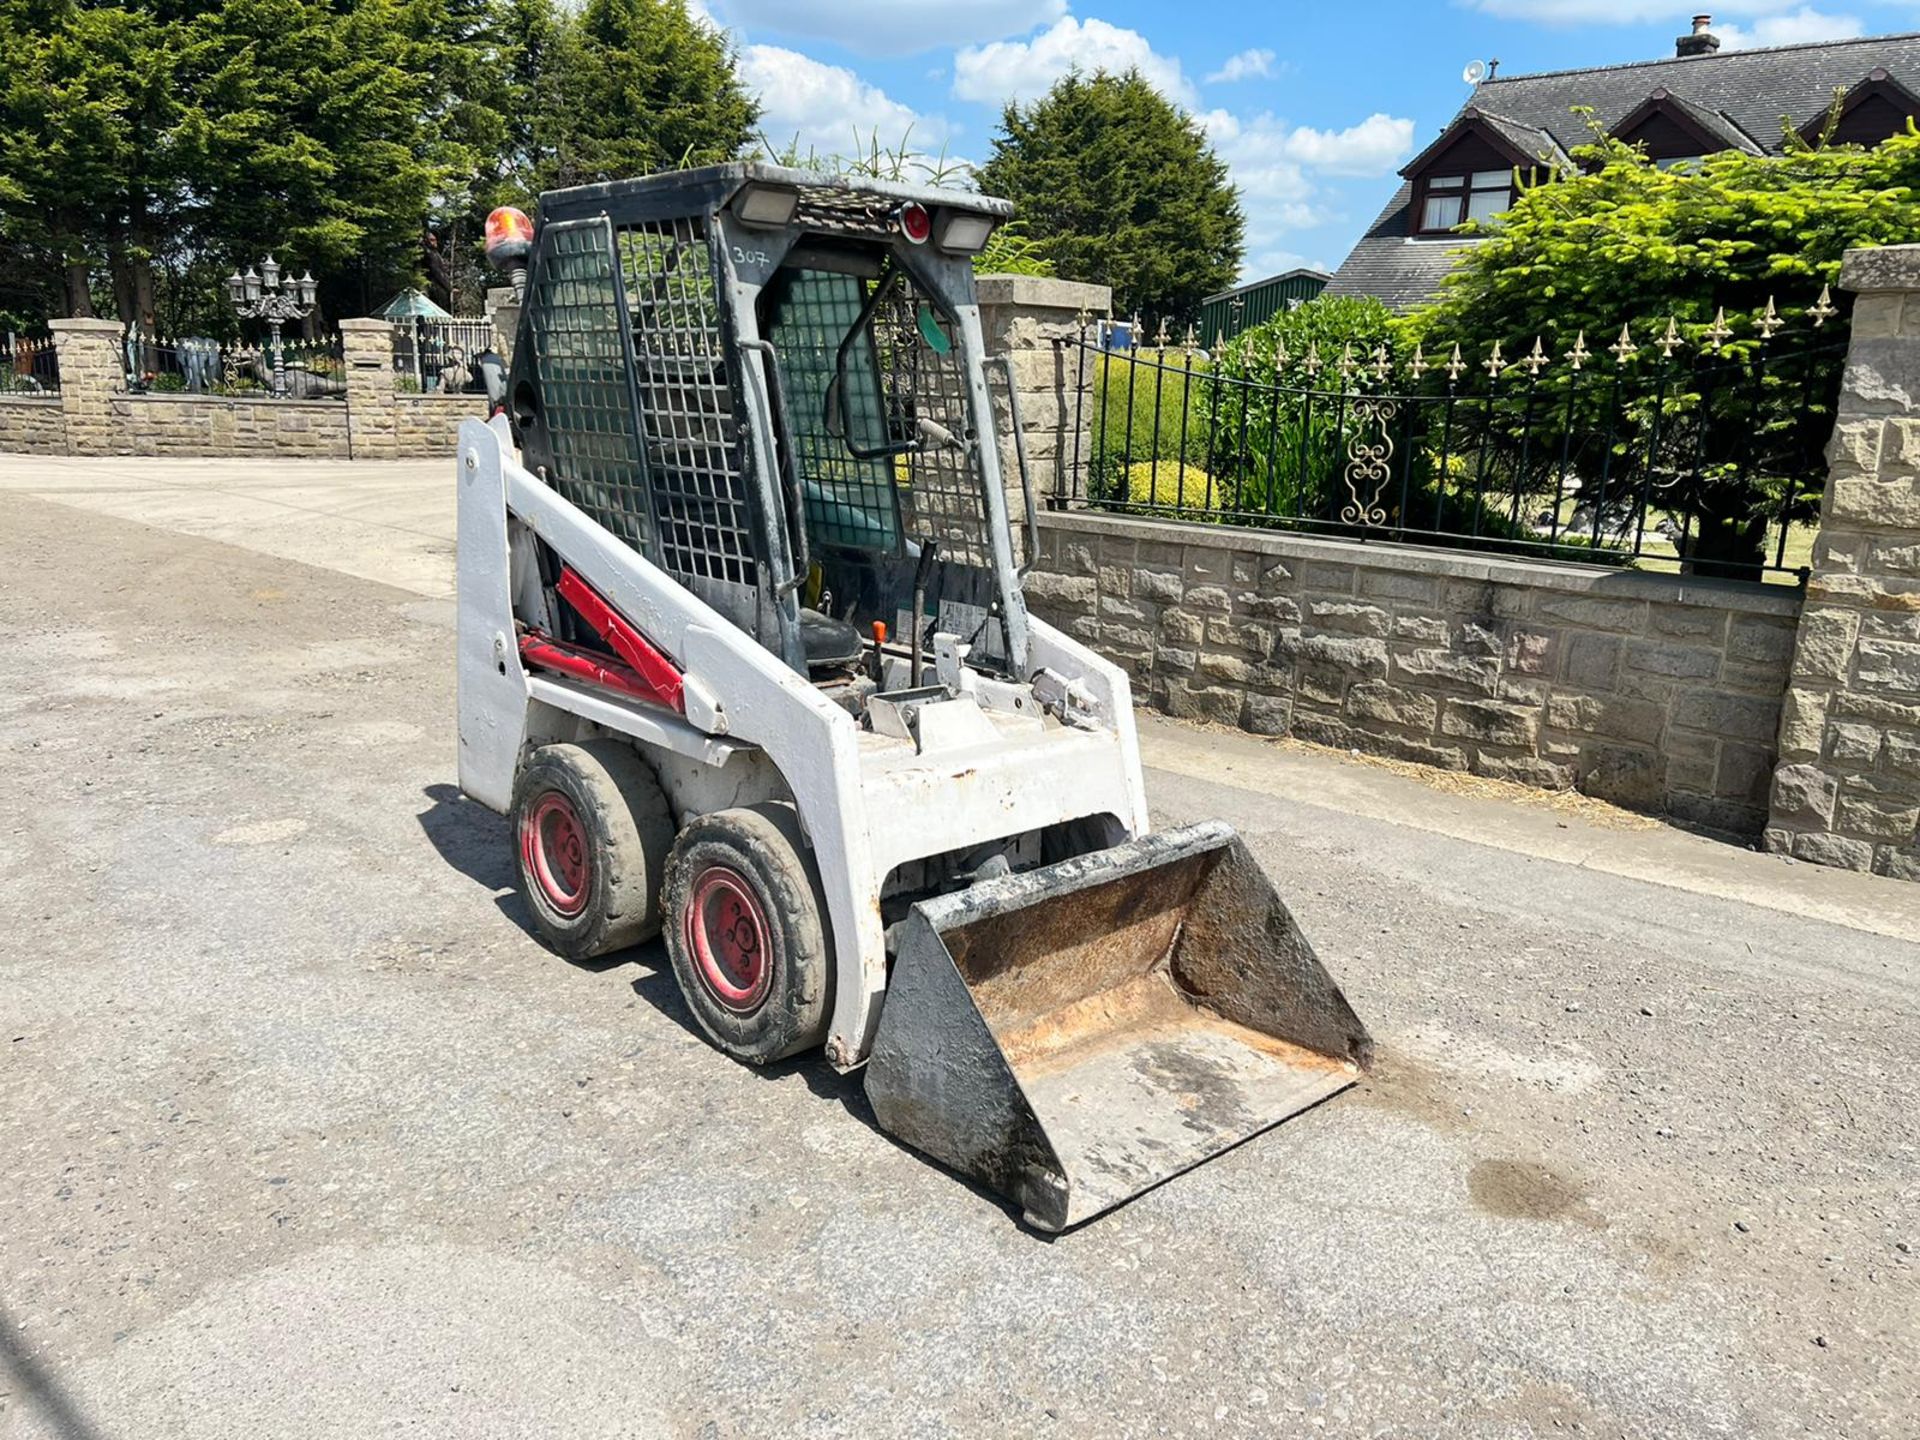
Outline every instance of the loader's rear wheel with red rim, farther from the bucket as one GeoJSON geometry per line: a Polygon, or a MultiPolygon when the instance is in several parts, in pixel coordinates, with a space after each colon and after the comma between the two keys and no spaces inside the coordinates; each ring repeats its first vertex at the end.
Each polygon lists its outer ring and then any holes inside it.
{"type": "Polygon", "coordinates": [[[520,899],[549,948],[591,960],[660,931],[674,818],[632,745],[534,751],[513,783],[513,835],[520,899]]]}

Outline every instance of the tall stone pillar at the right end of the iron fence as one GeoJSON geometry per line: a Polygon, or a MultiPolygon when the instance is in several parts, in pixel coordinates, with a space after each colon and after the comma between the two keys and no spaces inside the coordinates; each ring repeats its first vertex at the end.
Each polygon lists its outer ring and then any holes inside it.
{"type": "Polygon", "coordinates": [[[1920,246],[1849,250],[1853,340],[1766,849],[1920,879],[1920,246]]]}

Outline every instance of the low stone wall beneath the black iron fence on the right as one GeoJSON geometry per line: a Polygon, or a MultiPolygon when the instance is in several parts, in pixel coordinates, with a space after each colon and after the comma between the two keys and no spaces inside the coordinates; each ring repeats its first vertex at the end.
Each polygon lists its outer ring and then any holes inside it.
{"type": "Polygon", "coordinates": [[[1263,735],[1766,822],[1799,591],[1050,513],[1037,614],[1135,699],[1263,735]]]}

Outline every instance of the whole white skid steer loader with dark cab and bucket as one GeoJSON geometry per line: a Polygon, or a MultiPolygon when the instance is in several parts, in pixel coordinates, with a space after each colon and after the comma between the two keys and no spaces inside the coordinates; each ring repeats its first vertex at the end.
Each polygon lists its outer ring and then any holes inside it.
{"type": "Polygon", "coordinates": [[[459,434],[459,776],[541,939],[664,931],[714,1046],[864,1066],[1043,1231],[1352,1085],[1260,866],[1146,833],[1125,674],[1021,603],[970,263],[1006,202],[720,165],[540,213],[488,227],[524,307],[459,434]]]}

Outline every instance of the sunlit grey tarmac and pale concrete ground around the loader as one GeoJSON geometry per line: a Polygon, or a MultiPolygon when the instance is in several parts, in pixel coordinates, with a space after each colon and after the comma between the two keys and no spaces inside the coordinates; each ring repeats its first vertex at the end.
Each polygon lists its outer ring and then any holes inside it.
{"type": "Polygon", "coordinates": [[[1914,1434],[1920,887],[1146,722],[1380,1064],[1039,1238],[526,933],[449,468],[0,463],[0,1434],[1914,1434]]]}

